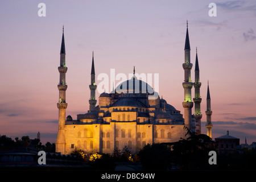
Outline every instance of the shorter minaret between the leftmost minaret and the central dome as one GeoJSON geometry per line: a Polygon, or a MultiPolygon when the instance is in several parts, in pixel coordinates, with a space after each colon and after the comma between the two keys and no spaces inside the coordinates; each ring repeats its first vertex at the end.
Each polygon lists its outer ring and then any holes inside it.
{"type": "Polygon", "coordinates": [[[95,71],[94,71],[94,58],[92,59],[92,71],[90,72],[90,110],[95,110],[95,106],[97,103],[97,100],[95,99],[95,90],[97,88],[97,85],[95,85],[95,71]]]}

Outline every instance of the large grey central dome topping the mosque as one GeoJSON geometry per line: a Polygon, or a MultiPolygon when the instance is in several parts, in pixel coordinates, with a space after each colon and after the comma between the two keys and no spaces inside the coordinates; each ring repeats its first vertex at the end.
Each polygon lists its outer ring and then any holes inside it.
{"type": "Polygon", "coordinates": [[[136,77],[123,81],[115,88],[115,91],[117,93],[154,93],[154,89],[150,85],[136,77]]]}

